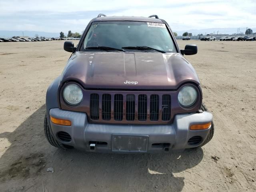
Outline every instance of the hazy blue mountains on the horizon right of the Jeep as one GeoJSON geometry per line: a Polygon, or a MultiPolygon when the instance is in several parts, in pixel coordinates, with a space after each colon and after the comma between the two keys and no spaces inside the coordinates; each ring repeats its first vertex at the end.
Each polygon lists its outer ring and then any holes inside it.
{"type": "MultiPolygon", "coordinates": [[[[256,28],[251,28],[252,31],[255,33],[256,28]]],[[[198,35],[198,34],[233,34],[237,33],[237,28],[209,28],[209,29],[190,29],[190,30],[183,30],[183,31],[175,31],[174,29],[172,30],[173,32],[176,32],[178,35],[182,35],[184,32],[192,33],[192,36],[198,35]]],[[[243,32],[245,34],[246,28],[240,28],[240,32],[243,32]]]]}

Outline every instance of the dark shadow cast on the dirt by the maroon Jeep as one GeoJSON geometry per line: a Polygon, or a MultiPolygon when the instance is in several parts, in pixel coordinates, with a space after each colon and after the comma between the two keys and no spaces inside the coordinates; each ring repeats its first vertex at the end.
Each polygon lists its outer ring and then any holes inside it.
{"type": "Polygon", "coordinates": [[[170,154],[99,154],[60,150],[43,131],[45,105],[12,133],[0,158],[0,189],[21,191],[181,191],[183,171],[199,164],[202,149],[170,154]],[[53,167],[54,172],[47,172],[53,167]],[[12,184],[12,186],[10,186],[12,184]]]}

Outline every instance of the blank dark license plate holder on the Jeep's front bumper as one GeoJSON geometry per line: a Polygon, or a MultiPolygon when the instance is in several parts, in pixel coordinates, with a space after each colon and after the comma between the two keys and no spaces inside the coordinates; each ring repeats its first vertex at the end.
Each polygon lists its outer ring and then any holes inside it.
{"type": "Polygon", "coordinates": [[[112,136],[113,152],[147,152],[148,136],[112,136]]]}

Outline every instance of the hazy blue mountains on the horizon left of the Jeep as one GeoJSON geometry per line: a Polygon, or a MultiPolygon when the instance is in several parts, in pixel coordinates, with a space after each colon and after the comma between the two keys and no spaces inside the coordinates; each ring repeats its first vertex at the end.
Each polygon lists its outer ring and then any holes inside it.
{"type": "Polygon", "coordinates": [[[59,37],[60,36],[60,33],[42,32],[42,31],[6,31],[6,30],[0,30],[0,37],[3,37],[3,38],[9,38],[9,37],[13,37],[13,36],[35,37],[36,34],[39,37],[40,36],[42,36],[42,37],[59,37]]]}

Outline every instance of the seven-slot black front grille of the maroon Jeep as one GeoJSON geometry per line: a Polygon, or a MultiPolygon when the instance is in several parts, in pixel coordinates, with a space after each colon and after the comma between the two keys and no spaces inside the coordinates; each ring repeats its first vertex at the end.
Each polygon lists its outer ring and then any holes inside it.
{"type": "Polygon", "coordinates": [[[90,119],[148,122],[171,120],[170,94],[90,94],[90,119]]]}

